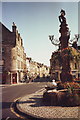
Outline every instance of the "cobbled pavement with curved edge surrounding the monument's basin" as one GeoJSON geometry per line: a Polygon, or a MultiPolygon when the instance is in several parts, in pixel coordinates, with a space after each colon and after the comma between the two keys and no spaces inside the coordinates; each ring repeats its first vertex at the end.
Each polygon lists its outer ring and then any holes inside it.
{"type": "MultiPolygon", "coordinates": [[[[34,94],[26,95],[16,101],[17,110],[26,117],[31,117],[32,120],[53,120],[55,118],[73,118],[80,120],[80,106],[76,107],[61,107],[61,106],[45,106],[42,102],[45,88],[35,92],[34,94]]],[[[30,119],[31,120],[31,119],[30,119]]]]}

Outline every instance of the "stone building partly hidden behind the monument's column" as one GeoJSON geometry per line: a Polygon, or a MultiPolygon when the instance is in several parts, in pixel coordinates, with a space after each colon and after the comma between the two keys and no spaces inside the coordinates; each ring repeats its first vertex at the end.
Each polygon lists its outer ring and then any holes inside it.
{"type": "MultiPolygon", "coordinates": [[[[79,47],[78,47],[79,48],[79,47]]],[[[80,49],[69,47],[71,50],[72,60],[70,60],[70,68],[73,79],[80,79],[80,49]]],[[[60,80],[62,71],[62,60],[60,57],[60,50],[52,53],[50,59],[50,77],[51,79],[60,80]]],[[[65,77],[65,76],[64,76],[65,77]]]]}

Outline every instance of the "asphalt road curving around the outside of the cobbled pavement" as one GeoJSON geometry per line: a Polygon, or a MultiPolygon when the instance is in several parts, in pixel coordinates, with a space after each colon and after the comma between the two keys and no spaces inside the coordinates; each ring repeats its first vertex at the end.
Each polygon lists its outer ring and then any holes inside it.
{"type": "Polygon", "coordinates": [[[14,100],[34,93],[44,88],[46,84],[46,82],[31,82],[2,88],[2,118],[5,120],[8,120],[8,118],[18,118],[10,109],[14,100]]]}

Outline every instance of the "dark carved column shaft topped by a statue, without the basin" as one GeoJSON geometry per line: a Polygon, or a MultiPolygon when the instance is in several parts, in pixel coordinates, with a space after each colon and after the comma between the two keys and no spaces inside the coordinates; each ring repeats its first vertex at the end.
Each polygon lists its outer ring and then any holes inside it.
{"type": "Polygon", "coordinates": [[[72,75],[70,74],[70,57],[68,54],[68,43],[69,43],[69,28],[66,24],[65,11],[61,10],[61,15],[59,16],[60,25],[60,49],[61,49],[61,57],[62,57],[62,72],[60,74],[60,79],[62,82],[72,81],[72,75]]]}

